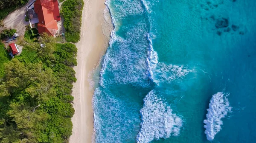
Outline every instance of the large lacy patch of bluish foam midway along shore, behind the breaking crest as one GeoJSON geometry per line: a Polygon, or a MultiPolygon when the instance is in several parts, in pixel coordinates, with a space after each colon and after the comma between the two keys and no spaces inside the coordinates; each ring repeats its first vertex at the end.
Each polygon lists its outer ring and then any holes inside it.
{"type": "MultiPolygon", "coordinates": [[[[143,25],[143,23],[138,23],[143,25]]],[[[148,87],[148,77],[145,73],[147,55],[147,41],[141,36],[145,35],[139,26],[126,33],[126,39],[116,36],[116,41],[108,50],[109,83],[132,84],[134,86],[148,87]]]]}

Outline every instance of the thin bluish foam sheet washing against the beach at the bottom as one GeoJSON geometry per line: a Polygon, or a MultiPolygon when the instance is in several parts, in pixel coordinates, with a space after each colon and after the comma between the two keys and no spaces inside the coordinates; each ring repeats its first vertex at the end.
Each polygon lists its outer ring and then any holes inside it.
{"type": "Polygon", "coordinates": [[[93,95],[96,143],[125,143],[134,140],[140,129],[139,104],[116,98],[99,87],[93,95]]]}

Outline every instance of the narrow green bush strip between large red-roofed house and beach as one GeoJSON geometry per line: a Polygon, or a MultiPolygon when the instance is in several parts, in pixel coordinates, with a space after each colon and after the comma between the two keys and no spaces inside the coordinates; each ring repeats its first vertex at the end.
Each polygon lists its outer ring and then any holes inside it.
{"type": "Polygon", "coordinates": [[[80,40],[83,6],[83,0],[66,0],[61,5],[67,42],[76,43],[80,40]]]}

